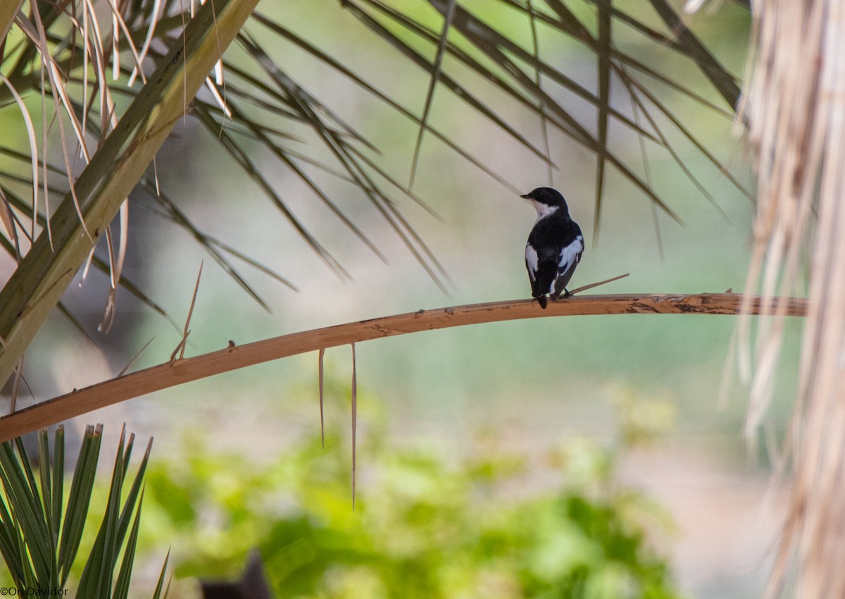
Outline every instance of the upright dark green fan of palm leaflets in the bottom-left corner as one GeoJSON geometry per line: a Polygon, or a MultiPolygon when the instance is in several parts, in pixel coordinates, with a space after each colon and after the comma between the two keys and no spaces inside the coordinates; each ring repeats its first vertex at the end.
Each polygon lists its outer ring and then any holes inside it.
{"type": "MultiPolygon", "coordinates": [[[[68,574],[79,554],[101,441],[102,426],[86,427],[66,505],[63,504],[63,426],[58,426],[54,432],[52,452],[47,431],[39,431],[37,478],[19,437],[0,445],[0,481],[3,484],[0,555],[18,588],[30,588],[46,595],[51,589],[66,587],[68,574]]],[[[80,599],[125,598],[128,595],[143,498],[141,484],[150,458],[148,445],[132,484],[128,491],[124,489],[132,445],[133,437],[126,442],[121,436],[103,522],[79,580],[76,596],[80,599]],[[130,521],[132,528],[128,530],[130,521]],[[116,579],[121,553],[123,559],[116,579]]]]}

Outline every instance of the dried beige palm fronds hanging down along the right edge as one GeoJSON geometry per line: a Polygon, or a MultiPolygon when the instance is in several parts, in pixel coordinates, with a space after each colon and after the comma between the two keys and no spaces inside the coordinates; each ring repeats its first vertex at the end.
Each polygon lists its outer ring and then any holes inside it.
{"type": "MultiPolygon", "coordinates": [[[[788,446],[792,496],[769,595],[845,596],[845,6],[761,0],[754,28],[754,77],[741,112],[759,176],[747,289],[770,299],[802,294],[810,253],[810,311],[788,446]]],[[[750,433],[771,398],[784,321],[780,313],[760,323],[750,433]]],[[[747,321],[739,334],[747,374],[747,321]]]]}

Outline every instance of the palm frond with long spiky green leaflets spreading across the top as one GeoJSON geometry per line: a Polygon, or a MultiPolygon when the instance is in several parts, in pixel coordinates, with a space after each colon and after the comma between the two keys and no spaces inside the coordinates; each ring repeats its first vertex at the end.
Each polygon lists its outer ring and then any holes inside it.
{"type": "MultiPolygon", "coordinates": [[[[613,147],[608,132],[616,125],[620,125],[620,130],[626,135],[636,135],[643,143],[667,152],[707,199],[711,200],[710,195],[697,175],[681,161],[679,151],[670,141],[674,139],[673,133],[679,133],[689,140],[697,151],[742,189],[726,165],[692,134],[690,127],[662,101],[659,93],[661,88],[676,91],[715,113],[732,116],[739,90],[737,78],[718,63],[713,52],[684,24],[683,19],[679,19],[666,0],[651,0],[650,3],[651,10],[665,25],[665,29],[651,25],[654,19],[626,12],[611,0],[585,2],[595,8],[594,23],[588,20],[584,11],[575,14],[568,3],[560,0],[498,0],[514,16],[524,19],[520,22],[531,25],[533,47],[524,47],[520,35],[499,22],[494,23],[485,14],[473,12],[459,0],[430,0],[432,10],[422,17],[416,16],[421,14],[417,11],[386,0],[344,0],[341,9],[350,15],[351,21],[386,42],[399,60],[415,65],[420,74],[427,78],[428,91],[422,105],[413,107],[398,102],[390,93],[380,90],[378,81],[363,77],[358,73],[356,65],[343,63],[337,56],[324,52],[317,41],[298,33],[295,27],[283,25],[280,20],[266,14],[254,15],[254,22],[269,32],[274,40],[300,48],[316,59],[319,65],[352,80],[377,102],[397,111],[416,127],[417,141],[410,157],[409,183],[413,182],[420,168],[423,139],[430,136],[444,148],[482,169],[509,191],[518,191],[510,183],[509,173],[499,173],[490,168],[481,157],[466,151],[457,140],[457,135],[433,122],[436,120],[432,118],[433,98],[437,95],[438,105],[440,102],[449,102],[450,106],[468,107],[504,131],[505,135],[537,160],[548,164],[549,168],[553,164],[548,156],[550,131],[570,138],[586,151],[595,154],[598,165],[595,196],[597,229],[604,210],[604,181],[608,165],[635,189],[640,190],[652,206],[659,207],[680,222],[671,203],[652,188],[647,176],[644,179],[639,174],[640,166],[627,162],[628,159],[613,147]],[[582,50],[597,57],[597,91],[591,91],[588,85],[579,81],[578,76],[567,73],[565,66],[540,58],[538,36],[541,29],[544,43],[547,39],[575,41],[582,50]],[[592,33],[594,30],[596,34],[592,33]],[[636,52],[627,50],[624,44],[617,43],[619,30],[629,34],[634,32],[635,36],[641,36],[662,52],[672,52],[690,61],[695,69],[701,71],[711,89],[728,103],[728,109],[722,106],[721,100],[714,102],[709,99],[713,95],[710,90],[693,89],[683,80],[662,73],[660,68],[647,63],[636,52]],[[427,47],[431,53],[425,49],[427,47]],[[466,73],[477,75],[481,84],[472,82],[472,78],[467,79],[466,73]],[[548,85],[542,85],[543,80],[548,85]],[[610,97],[615,80],[621,80],[629,91],[632,102],[635,102],[635,110],[643,116],[642,125],[637,122],[637,118],[631,118],[630,108],[621,109],[619,102],[613,102],[610,97]],[[554,85],[552,90],[549,89],[551,84],[554,85]],[[438,87],[450,93],[440,95],[438,87]],[[500,110],[497,102],[502,97],[516,102],[518,107],[537,116],[542,127],[542,145],[534,143],[533,135],[522,130],[521,124],[515,124],[511,117],[500,110]],[[586,102],[595,111],[595,118],[588,124],[583,110],[576,111],[569,106],[570,99],[586,102]],[[664,119],[668,123],[664,123],[664,119]]],[[[348,209],[330,197],[325,191],[329,188],[319,179],[322,173],[313,174],[311,167],[356,186],[360,190],[358,201],[368,202],[379,217],[389,224],[429,277],[441,289],[447,289],[448,274],[433,250],[417,234],[412,221],[400,212],[397,198],[417,201],[436,216],[434,209],[412,192],[411,184],[406,186],[399,183],[401,177],[384,167],[379,147],[367,131],[357,129],[357,124],[349,122],[340,110],[332,106],[332,101],[308,91],[307,86],[292,76],[281,59],[276,57],[275,47],[241,30],[243,19],[239,20],[237,32],[226,31],[226,35],[231,33],[233,37],[237,36],[238,44],[244,52],[237,56],[214,57],[209,69],[203,72],[204,66],[200,69],[194,63],[196,54],[185,42],[185,31],[186,25],[188,29],[197,26],[196,21],[203,17],[205,8],[193,20],[193,14],[184,12],[188,7],[176,0],[110,3],[107,14],[97,14],[90,3],[81,3],[79,0],[30,3],[26,12],[19,12],[17,8],[11,10],[24,5],[12,2],[4,3],[3,8],[0,8],[0,30],[8,32],[10,27],[17,29],[14,42],[8,42],[8,47],[4,42],[3,54],[0,55],[5,83],[0,85],[0,110],[14,109],[25,113],[29,151],[15,148],[14,151],[18,151],[26,160],[21,161],[19,167],[0,172],[0,178],[28,183],[33,192],[31,201],[0,201],[0,218],[5,239],[9,241],[3,247],[8,250],[17,244],[19,249],[15,251],[25,261],[20,272],[30,273],[27,275],[29,283],[24,287],[32,288],[31,293],[28,292],[30,300],[38,297],[39,301],[35,304],[30,301],[30,305],[35,308],[30,309],[27,317],[18,322],[16,316],[20,306],[8,302],[11,292],[0,292],[0,300],[3,300],[0,301],[0,336],[7,340],[10,338],[14,348],[13,351],[4,349],[0,353],[0,376],[9,371],[14,356],[19,354],[26,340],[40,326],[46,310],[57,304],[63,286],[85,260],[85,256],[89,255],[89,250],[75,251],[72,258],[68,256],[67,260],[63,259],[61,268],[56,261],[52,261],[52,267],[47,266],[51,262],[48,254],[54,250],[59,254],[64,251],[63,246],[71,229],[68,223],[82,223],[82,215],[85,215],[85,224],[79,224],[79,227],[74,225],[73,228],[81,228],[83,234],[90,237],[86,242],[88,245],[104,233],[110,241],[109,261],[103,263],[95,259],[92,262],[108,272],[112,280],[106,316],[113,315],[109,310],[114,308],[117,286],[123,286],[154,310],[164,313],[161,306],[150,300],[149,292],[138,289],[121,272],[125,256],[125,231],[121,228],[121,240],[118,241],[117,237],[112,238],[108,228],[112,211],[117,210],[117,203],[110,204],[107,211],[97,212],[98,216],[91,219],[91,190],[106,183],[90,177],[90,173],[96,169],[103,172],[113,170],[113,160],[119,148],[126,149],[133,143],[128,141],[128,133],[135,133],[137,127],[147,124],[144,118],[160,114],[154,107],[163,101],[166,94],[178,96],[182,100],[182,108],[185,102],[192,101],[194,93],[188,91],[187,86],[172,85],[166,93],[154,91],[159,88],[155,86],[153,73],[155,69],[166,72],[167,61],[175,61],[172,66],[181,67],[185,73],[190,71],[191,77],[199,80],[198,89],[207,80],[208,88],[215,97],[208,99],[207,96],[200,96],[193,99],[194,111],[189,117],[184,117],[182,113],[178,117],[171,115],[150,130],[158,132],[169,129],[178,118],[198,119],[205,129],[213,132],[216,143],[226,151],[232,162],[273,202],[281,217],[291,223],[293,232],[302,237],[327,267],[346,279],[351,278],[351,274],[341,266],[343,256],[340,250],[308,231],[303,217],[283,200],[285,194],[282,190],[274,189],[270,179],[260,172],[258,162],[249,155],[246,148],[257,143],[264,156],[270,157],[281,168],[300,179],[355,239],[384,260],[378,240],[371,239],[365,228],[349,216],[346,212],[348,209]],[[207,79],[211,69],[215,71],[214,81],[207,79]],[[223,72],[228,80],[221,86],[223,72]],[[142,82],[147,79],[149,82],[139,85],[136,79],[142,82]],[[40,115],[32,109],[33,104],[27,101],[30,93],[37,93],[45,100],[40,115]],[[137,115],[134,122],[131,119],[128,121],[131,109],[122,111],[122,99],[143,106],[145,114],[137,115]],[[38,116],[41,116],[41,140],[33,135],[37,129],[35,125],[38,116]],[[225,127],[222,126],[224,123],[225,127]],[[120,135],[120,144],[117,143],[116,134],[120,135]],[[34,143],[34,140],[38,143],[34,143]],[[48,144],[62,152],[59,160],[61,166],[48,164],[48,155],[58,155],[57,151],[48,152],[48,144]],[[317,151],[303,151],[305,145],[314,146],[317,151]],[[41,154],[40,161],[34,158],[38,153],[41,154]],[[328,155],[330,158],[326,160],[320,155],[328,155]],[[74,169],[78,166],[80,156],[88,168],[79,178],[75,178],[74,169]],[[63,181],[57,179],[59,174],[63,176],[63,181]],[[42,194],[38,192],[39,186],[43,188],[42,194]],[[62,204],[55,210],[47,204],[50,195],[64,196],[62,204]],[[46,220],[45,215],[53,218],[46,220]],[[61,215],[61,218],[57,218],[57,215],[61,215]],[[59,221],[63,221],[65,228],[57,228],[59,221]],[[29,226],[25,227],[27,223],[29,226]],[[26,240],[20,236],[21,231],[33,239],[32,248],[28,251],[25,250],[26,240]],[[41,241],[41,237],[45,236],[47,240],[41,241]],[[50,252],[45,251],[48,246],[50,252]],[[53,270],[48,274],[50,268],[53,270]],[[37,293],[36,282],[41,282],[37,293]],[[19,341],[16,331],[20,332],[19,341]]],[[[747,3],[739,2],[739,5],[747,8],[747,3]]],[[[215,50],[226,45],[222,43],[220,17],[227,6],[227,3],[215,3],[215,22],[211,25],[215,28],[215,50]],[[218,41],[221,43],[218,44],[218,41]]],[[[239,5],[237,10],[242,11],[239,14],[245,18],[249,7],[239,5]]],[[[149,158],[146,156],[144,160],[149,158]]],[[[140,170],[143,169],[134,168],[137,176],[129,178],[134,180],[123,181],[123,198],[115,198],[113,202],[122,202],[130,195],[132,186],[139,181],[147,190],[152,190],[148,178],[140,170]]],[[[6,189],[3,187],[4,192],[6,189]]],[[[746,190],[743,191],[750,195],[746,190]]],[[[27,195],[19,193],[19,190],[12,193],[18,198],[27,195]]],[[[246,256],[222,240],[199,231],[191,223],[188,211],[179,206],[177,198],[169,198],[157,189],[153,197],[161,209],[157,213],[185,228],[260,305],[264,303],[255,292],[254,285],[237,270],[229,260],[230,257],[247,261],[258,268],[259,272],[292,287],[286,278],[263,267],[258,259],[246,256]]],[[[16,275],[14,281],[8,283],[20,287],[22,278],[25,278],[23,274],[16,275]]]]}

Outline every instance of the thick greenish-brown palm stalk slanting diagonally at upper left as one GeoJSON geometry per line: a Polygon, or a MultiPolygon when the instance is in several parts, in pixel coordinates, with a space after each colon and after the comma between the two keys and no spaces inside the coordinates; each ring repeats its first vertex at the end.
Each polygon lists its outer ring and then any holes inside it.
{"type": "MultiPolygon", "coordinates": [[[[73,182],[71,193],[52,215],[52,239],[42,234],[35,240],[0,291],[0,337],[6,341],[0,349],[0,379],[12,372],[61,298],[75,269],[90,253],[91,234],[99,236],[105,232],[155,151],[182,118],[186,90],[193,96],[203,84],[205,73],[220,58],[221,47],[237,35],[253,5],[253,0],[221,0],[214,7],[204,7],[188,23],[177,43],[172,44],[169,61],[160,63],[117,127],[90,156],[90,162],[73,182]],[[85,223],[79,218],[81,214],[85,214],[85,223]]],[[[40,47],[46,52],[46,36],[41,36],[40,47]]],[[[42,58],[47,60],[43,55],[42,58]]],[[[49,64],[54,66],[55,59],[51,57],[49,64]]],[[[57,77],[51,82],[57,85],[57,77]]],[[[65,108],[68,114],[74,112],[69,102],[65,108]]],[[[101,118],[113,116],[111,105],[107,110],[108,114],[101,108],[101,118]]],[[[85,140],[80,140],[80,144],[85,146],[85,140]]],[[[67,155],[67,146],[63,147],[67,155]]],[[[68,176],[69,171],[68,168],[68,176]]]]}

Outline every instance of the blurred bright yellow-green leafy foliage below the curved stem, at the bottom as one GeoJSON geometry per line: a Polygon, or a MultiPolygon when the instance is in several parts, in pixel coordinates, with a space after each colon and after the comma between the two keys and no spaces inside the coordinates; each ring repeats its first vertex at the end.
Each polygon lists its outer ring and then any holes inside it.
{"type": "Polygon", "coordinates": [[[177,592],[190,592],[184,577],[237,579],[259,547],[280,597],[680,596],[655,548],[667,515],[615,479],[621,453],[671,422],[667,404],[619,404],[615,445],[568,438],[538,461],[496,431],[466,455],[390,442],[364,395],[353,511],[338,417],[349,389],[329,387],[325,447],[311,429],[256,461],[195,433],[177,458],[152,460],[139,544],[170,540],[177,592]],[[546,481],[526,490],[538,471],[546,481]]]}

